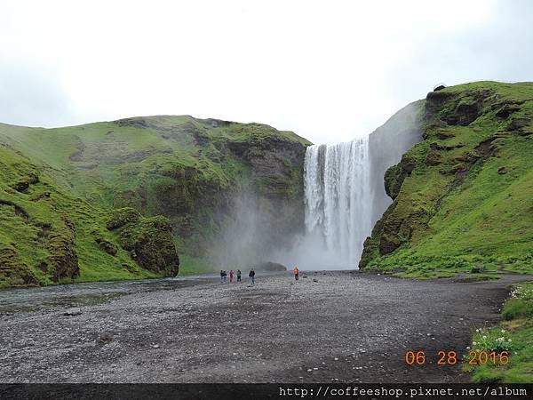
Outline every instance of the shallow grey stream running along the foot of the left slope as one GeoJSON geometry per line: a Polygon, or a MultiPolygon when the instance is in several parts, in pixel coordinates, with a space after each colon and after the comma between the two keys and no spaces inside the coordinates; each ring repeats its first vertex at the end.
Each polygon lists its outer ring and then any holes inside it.
{"type": "Polygon", "coordinates": [[[75,308],[105,303],[137,292],[174,290],[215,281],[217,276],[196,275],[139,281],[91,282],[57,286],[0,290],[0,315],[39,311],[46,308],[75,308]]]}

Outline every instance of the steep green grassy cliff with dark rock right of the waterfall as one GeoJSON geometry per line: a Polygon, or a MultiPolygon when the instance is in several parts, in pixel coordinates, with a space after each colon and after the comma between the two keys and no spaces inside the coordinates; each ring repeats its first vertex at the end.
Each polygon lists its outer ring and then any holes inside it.
{"type": "Polygon", "coordinates": [[[423,140],[386,171],[393,203],[360,268],[408,276],[478,265],[530,270],[533,84],[458,85],[420,105],[423,140]]]}

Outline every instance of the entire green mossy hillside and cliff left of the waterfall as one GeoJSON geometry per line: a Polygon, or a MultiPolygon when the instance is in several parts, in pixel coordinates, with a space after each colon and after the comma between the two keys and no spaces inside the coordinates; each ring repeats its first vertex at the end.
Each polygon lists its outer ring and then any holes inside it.
{"type": "Polygon", "coordinates": [[[303,229],[308,144],[190,116],[0,124],[0,285],[168,276],[177,251],[229,262],[243,226],[255,256],[287,244],[303,229]]]}

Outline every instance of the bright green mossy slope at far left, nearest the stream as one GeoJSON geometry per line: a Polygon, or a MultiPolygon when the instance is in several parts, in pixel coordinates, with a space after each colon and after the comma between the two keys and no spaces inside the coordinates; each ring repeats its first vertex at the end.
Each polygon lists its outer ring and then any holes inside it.
{"type": "MultiPolygon", "coordinates": [[[[0,145],[0,287],[132,279],[164,272],[140,268],[106,228],[108,219],[104,209],[75,196],[27,158],[0,145]]],[[[172,240],[167,243],[173,246],[172,240]]]]}

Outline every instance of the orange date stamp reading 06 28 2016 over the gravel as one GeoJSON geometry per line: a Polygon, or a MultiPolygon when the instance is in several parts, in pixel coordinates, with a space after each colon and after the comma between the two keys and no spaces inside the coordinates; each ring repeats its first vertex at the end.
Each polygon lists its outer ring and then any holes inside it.
{"type": "MultiPolygon", "coordinates": [[[[459,362],[457,352],[455,351],[438,351],[434,355],[437,365],[455,365],[459,362]]],[[[424,365],[427,361],[426,352],[424,350],[408,351],[404,356],[405,362],[409,365],[424,365]]],[[[432,360],[433,361],[433,360],[432,360]]],[[[470,365],[505,365],[509,364],[509,353],[502,351],[497,353],[495,351],[470,351],[465,357],[465,362],[470,365]]]]}

